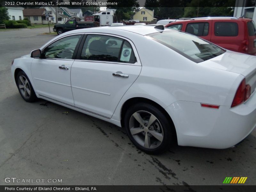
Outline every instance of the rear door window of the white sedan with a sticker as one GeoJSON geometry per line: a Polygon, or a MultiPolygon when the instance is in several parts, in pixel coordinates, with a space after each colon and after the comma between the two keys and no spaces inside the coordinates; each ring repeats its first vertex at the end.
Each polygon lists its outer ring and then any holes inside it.
{"type": "Polygon", "coordinates": [[[124,63],[136,61],[128,41],[105,35],[87,35],[80,59],[124,63]]]}

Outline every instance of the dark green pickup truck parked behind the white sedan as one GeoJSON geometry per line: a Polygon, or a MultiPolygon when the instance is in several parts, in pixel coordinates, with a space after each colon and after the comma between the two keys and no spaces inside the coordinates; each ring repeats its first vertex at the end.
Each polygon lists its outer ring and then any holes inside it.
{"type": "Polygon", "coordinates": [[[57,32],[58,35],[75,30],[75,29],[82,29],[82,28],[91,28],[91,27],[99,27],[100,23],[96,21],[76,21],[75,19],[68,20],[64,24],[56,24],[54,25],[53,31],[57,32]]]}

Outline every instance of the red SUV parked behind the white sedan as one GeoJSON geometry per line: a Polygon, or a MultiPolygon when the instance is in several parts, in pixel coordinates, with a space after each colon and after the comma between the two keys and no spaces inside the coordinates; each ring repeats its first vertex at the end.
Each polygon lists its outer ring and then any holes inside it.
{"type": "Polygon", "coordinates": [[[251,19],[204,17],[176,21],[165,27],[199,36],[225,49],[256,55],[255,25],[251,19]]]}

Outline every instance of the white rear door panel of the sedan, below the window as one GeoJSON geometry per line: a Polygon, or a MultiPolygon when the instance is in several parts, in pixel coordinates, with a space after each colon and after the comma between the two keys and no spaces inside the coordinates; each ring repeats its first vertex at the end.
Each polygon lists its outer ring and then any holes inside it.
{"type": "Polygon", "coordinates": [[[141,66],[75,61],[71,71],[75,106],[111,118],[124,93],[140,74],[141,66]],[[128,78],[112,73],[123,73],[128,78]]]}

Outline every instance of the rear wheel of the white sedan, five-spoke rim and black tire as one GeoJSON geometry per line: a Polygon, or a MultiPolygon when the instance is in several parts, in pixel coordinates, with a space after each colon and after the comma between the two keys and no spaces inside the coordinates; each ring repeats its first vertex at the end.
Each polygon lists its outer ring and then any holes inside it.
{"type": "Polygon", "coordinates": [[[162,153],[174,141],[172,123],[154,105],[138,103],[131,106],[125,114],[124,124],[132,143],[146,153],[162,153]]]}

